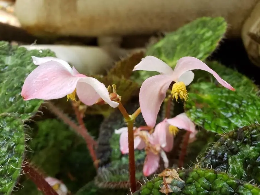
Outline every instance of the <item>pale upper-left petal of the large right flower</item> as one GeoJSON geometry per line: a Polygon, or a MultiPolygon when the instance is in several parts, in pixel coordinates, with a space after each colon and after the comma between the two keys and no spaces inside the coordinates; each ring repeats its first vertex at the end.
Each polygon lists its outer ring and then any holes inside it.
{"type": "Polygon", "coordinates": [[[173,73],[172,68],[168,66],[168,64],[157,57],[149,55],[143,58],[142,61],[134,67],[133,71],[135,70],[155,71],[166,75],[171,75],[173,73]]]}

